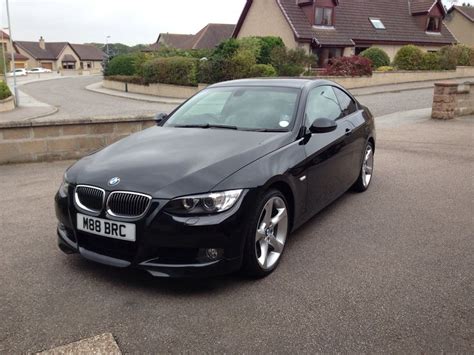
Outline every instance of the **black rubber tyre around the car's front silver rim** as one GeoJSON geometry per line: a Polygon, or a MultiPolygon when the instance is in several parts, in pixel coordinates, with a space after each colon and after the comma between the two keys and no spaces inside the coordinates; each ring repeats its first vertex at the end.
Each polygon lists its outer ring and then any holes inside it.
{"type": "MultiPolygon", "coordinates": [[[[289,234],[290,211],[288,209],[288,202],[286,201],[285,196],[279,190],[271,189],[267,191],[265,194],[263,194],[263,196],[259,199],[259,202],[257,203],[257,206],[254,210],[253,217],[251,218],[251,221],[249,223],[248,232],[245,238],[245,247],[244,247],[244,255],[243,255],[243,265],[242,265],[242,272],[246,276],[250,276],[253,278],[262,278],[262,277],[268,276],[277,268],[281,260],[281,256],[284,250],[284,243],[283,243],[282,251],[279,253],[280,255],[278,259],[276,260],[276,262],[269,268],[262,267],[258,261],[259,250],[257,250],[257,241],[256,241],[257,228],[262,223],[261,219],[262,219],[262,214],[264,213],[263,212],[264,208],[267,205],[267,203],[269,203],[269,201],[275,200],[275,198],[279,199],[278,201],[283,201],[286,208],[286,214],[287,214],[286,230],[284,227],[282,227],[281,231],[277,231],[276,233],[285,232],[285,235],[286,235],[285,242],[286,242],[286,237],[289,234]]],[[[278,223],[278,226],[280,226],[280,223],[278,223]]],[[[272,247],[270,246],[268,250],[272,250],[272,247]]],[[[270,251],[268,251],[267,253],[270,253],[270,251]]]]}

